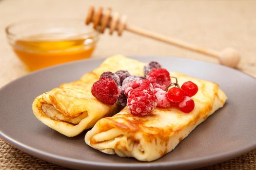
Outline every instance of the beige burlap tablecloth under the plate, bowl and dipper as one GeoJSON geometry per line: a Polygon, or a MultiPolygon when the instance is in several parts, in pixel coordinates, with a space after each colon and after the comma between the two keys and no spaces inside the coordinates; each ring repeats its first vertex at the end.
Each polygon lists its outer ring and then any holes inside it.
{"type": "MultiPolygon", "coordinates": [[[[0,0],[0,87],[27,74],[11,51],[4,28],[28,18],[83,18],[90,5],[112,7],[128,23],[207,48],[234,47],[242,58],[238,69],[256,77],[256,0],[0,0]]],[[[138,35],[100,36],[94,57],[113,54],[180,56],[217,60],[138,35]]],[[[17,150],[0,139],[0,169],[65,169],[17,150]]],[[[256,169],[256,150],[205,170],[256,169]]]]}

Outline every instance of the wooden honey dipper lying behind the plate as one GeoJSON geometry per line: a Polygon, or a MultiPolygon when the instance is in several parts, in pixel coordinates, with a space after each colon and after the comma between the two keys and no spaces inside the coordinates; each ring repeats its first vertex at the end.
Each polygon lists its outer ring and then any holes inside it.
{"type": "Polygon", "coordinates": [[[172,44],[180,48],[215,57],[219,60],[220,64],[231,68],[236,68],[239,63],[240,55],[233,48],[227,48],[223,51],[215,51],[198,47],[196,45],[183,42],[178,39],[150,32],[148,30],[144,30],[133,25],[128,25],[126,23],[126,16],[119,18],[118,13],[115,13],[113,16],[111,16],[111,11],[111,8],[107,8],[105,14],[103,14],[103,9],[101,7],[98,9],[98,11],[95,11],[93,6],[90,7],[85,21],[86,25],[92,22],[94,29],[98,30],[100,33],[104,33],[105,28],[109,28],[109,34],[113,34],[114,31],[117,31],[119,36],[122,34],[123,30],[127,30],[132,33],[147,36],[149,38],[172,44]]]}

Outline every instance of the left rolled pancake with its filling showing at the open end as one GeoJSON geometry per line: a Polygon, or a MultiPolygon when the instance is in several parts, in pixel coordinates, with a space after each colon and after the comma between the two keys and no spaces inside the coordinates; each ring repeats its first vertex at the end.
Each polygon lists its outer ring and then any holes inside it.
{"type": "Polygon", "coordinates": [[[34,115],[42,123],[65,136],[76,136],[91,128],[106,116],[117,113],[118,106],[99,102],[91,93],[91,87],[104,71],[128,70],[140,75],[144,64],[137,60],[115,55],[107,58],[98,68],[80,80],[60,85],[39,95],[33,102],[34,115]]]}

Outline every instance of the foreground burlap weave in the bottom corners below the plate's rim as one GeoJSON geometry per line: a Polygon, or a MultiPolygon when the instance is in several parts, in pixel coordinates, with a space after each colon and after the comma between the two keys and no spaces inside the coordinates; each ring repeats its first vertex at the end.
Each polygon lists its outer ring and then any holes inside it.
{"type": "MultiPolygon", "coordinates": [[[[0,139],[0,170],[70,170],[45,162],[0,139]]],[[[256,150],[235,159],[198,170],[256,170],[256,150]]]]}

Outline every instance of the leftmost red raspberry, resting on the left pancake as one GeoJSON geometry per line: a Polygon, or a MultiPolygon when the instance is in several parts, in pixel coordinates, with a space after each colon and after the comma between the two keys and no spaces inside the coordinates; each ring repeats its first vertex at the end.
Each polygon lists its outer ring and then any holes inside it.
{"type": "Polygon", "coordinates": [[[101,77],[93,84],[91,92],[100,102],[105,104],[115,104],[120,90],[114,79],[101,77]]]}

